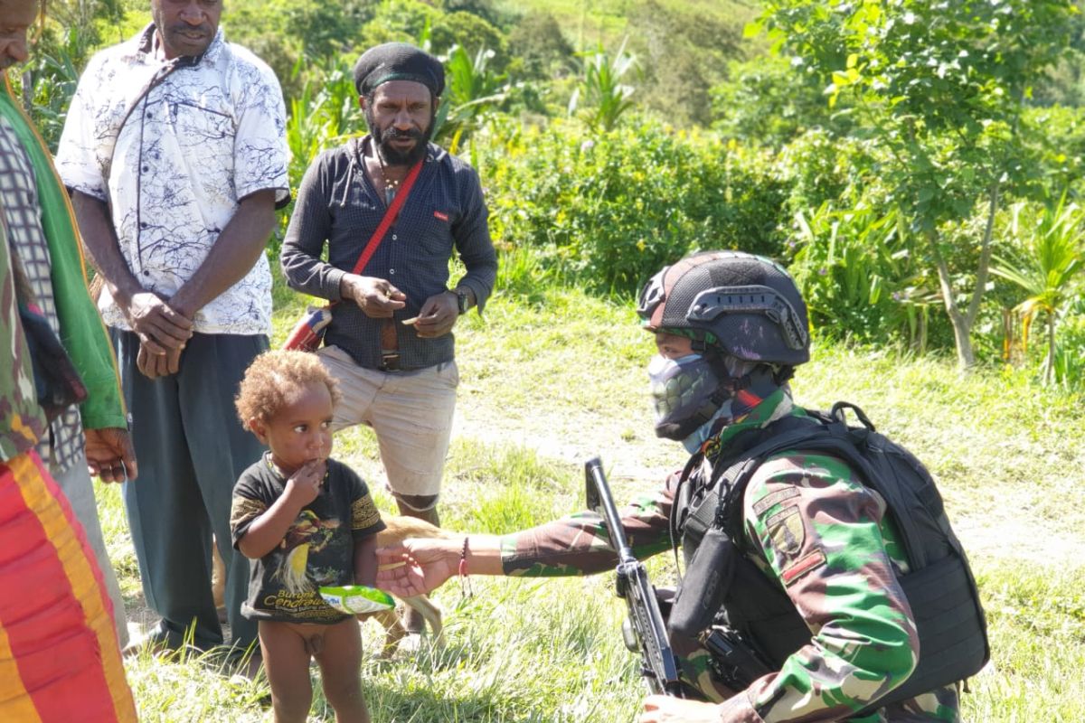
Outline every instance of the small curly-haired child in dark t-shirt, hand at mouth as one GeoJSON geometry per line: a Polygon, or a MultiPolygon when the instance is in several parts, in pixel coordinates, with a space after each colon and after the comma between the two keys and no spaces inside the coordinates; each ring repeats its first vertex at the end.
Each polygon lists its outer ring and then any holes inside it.
{"type": "Polygon", "coordinates": [[[366,483],[330,459],[335,380],[316,354],[269,351],[245,372],[238,414],[270,449],[233,488],[233,545],[255,560],[241,611],[259,624],[277,723],[303,722],[312,702],[309,658],[337,723],[369,723],[358,621],[321,585],[372,585],[384,529],[366,483]]]}

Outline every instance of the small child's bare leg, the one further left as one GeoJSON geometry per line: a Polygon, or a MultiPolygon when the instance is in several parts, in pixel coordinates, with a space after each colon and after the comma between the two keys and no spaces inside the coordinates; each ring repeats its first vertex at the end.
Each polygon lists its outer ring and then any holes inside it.
{"type": "Polygon", "coordinates": [[[312,705],[305,637],[288,622],[267,620],[259,621],[259,635],[276,723],[305,723],[312,705]]]}

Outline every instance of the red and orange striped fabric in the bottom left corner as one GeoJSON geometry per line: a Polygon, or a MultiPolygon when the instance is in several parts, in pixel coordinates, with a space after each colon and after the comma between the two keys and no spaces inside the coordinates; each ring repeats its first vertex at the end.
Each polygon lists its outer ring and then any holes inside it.
{"type": "Polygon", "coordinates": [[[136,721],[101,570],[36,452],[0,463],[0,721],[136,721]]]}

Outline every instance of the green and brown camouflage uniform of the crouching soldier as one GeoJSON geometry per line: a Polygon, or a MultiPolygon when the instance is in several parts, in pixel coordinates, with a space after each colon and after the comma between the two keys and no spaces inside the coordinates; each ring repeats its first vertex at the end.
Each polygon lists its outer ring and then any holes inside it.
{"type": "MultiPolygon", "coordinates": [[[[707,459],[718,459],[739,432],[788,414],[805,413],[781,388],[711,439],[707,459]]],[[[640,558],[671,545],[677,481],[672,475],[623,515],[640,558]]],[[[722,721],[959,720],[953,685],[848,718],[903,683],[918,660],[911,610],[896,580],[907,572],[907,558],[884,513],[881,496],[838,459],[794,451],[761,465],[743,498],[745,550],[786,590],[813,638],[738,695],[713,680],[703,648],[679,649],[676,642],[682,677],[710,700],[724,701],[722,721]]],[[[602,520],[587,513],[502,538],[501,558],[506,574],[522,577],[586,574],[616,564],[602,520]]]]}

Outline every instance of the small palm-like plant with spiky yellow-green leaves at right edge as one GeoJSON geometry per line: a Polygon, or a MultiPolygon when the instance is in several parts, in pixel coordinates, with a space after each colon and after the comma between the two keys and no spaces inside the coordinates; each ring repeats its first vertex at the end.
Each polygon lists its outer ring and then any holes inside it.
{"type": "Polygon", "coordinates": [[[1020,250],[1011,258],[995,257],[992,273],[1021,287],[1027,297],[1014,311],[1021,314],[1022,341],[1029,341],[1029,328],[1037,317],[1047,321],[1047,358],[1044,382],[1055,372],[1055,330],[1061,310],[1074,299],[1076,275],[1085,260],[1085,210],[1067,204],[1062,194],[1056,204],[1035,211],[1024,204],[1013,207],[1011,233],[1020,241],[1020,250]]]}

